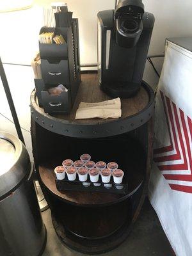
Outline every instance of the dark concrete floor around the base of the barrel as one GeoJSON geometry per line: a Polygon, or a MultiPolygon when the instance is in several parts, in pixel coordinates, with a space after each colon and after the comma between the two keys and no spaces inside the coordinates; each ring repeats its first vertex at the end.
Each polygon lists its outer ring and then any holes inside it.
{"type": "MultiPolygon", "coordinates": [[[[54,232],[51,221],[51,211],[47,210],[42,213],[44,223],[47,227],[48,238],[47,246],[43,256],[80,256],[61,244],[54,232]]],[[[145,200],[138,221],[134,225],[130,236],[115,250],[105,253],[105,256],[173,256],[172,248],[161,228],[156,212],[145,200]]]]}

